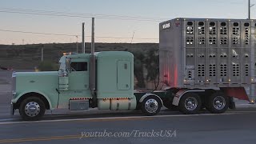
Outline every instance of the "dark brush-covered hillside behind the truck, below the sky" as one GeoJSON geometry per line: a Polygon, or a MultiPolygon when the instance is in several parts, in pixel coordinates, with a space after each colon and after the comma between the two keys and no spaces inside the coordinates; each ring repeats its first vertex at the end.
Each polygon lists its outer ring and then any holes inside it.
{"type": "MultiPolygon", "coordinates": [[[[13,69],[34,69],[41,62],[41,50],[44,48],[44,60],[58,62],[64,52],[76,52],[76,43],[50,43],[33,45],[0,45],[0,66],[13,69]]],[[[96,43],[95,51],[126,50],[141,51],[158,49],[157,43],[96,43]]],[[[81,45],[79,45],[81,52],[81,45]]],[[[90,53],[90,43],[86,43],[86,53],[90,53]]]]}

